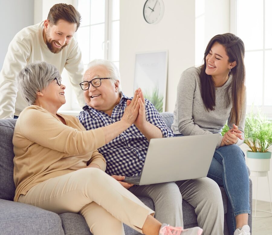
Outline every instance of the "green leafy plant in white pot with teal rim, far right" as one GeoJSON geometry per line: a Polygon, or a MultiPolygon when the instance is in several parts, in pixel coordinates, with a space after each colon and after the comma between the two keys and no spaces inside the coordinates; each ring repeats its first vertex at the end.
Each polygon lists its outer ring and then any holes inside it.
{"type": "MultiPolygon", "coordinates": [[[[244,127],[244,143],[250,148],[247,151],[247,165],[251,171],[263,172],[270,170],[272,144],[272,122],[258,112],[247,114],[244,127]]],[[[259,174],[261,176],[261,174],[259,174]]]]}

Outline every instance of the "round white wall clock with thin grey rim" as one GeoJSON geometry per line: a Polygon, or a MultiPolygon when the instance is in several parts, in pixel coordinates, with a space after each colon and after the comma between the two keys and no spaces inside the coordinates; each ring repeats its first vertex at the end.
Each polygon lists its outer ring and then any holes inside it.
{"type": "Polygon", "coordinates": [[[144,4],[144,19],[149,24],[158,23],[164,15],[162,0],[147,0],[144,4]]]}

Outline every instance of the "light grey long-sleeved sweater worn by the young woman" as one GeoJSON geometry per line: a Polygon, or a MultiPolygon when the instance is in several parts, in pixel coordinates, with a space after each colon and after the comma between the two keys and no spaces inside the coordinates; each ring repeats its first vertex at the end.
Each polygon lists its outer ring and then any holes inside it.
{"type": "MultiPolygon", "coordinates": [[[[230,128],[233,127],[233,123],[230,122],[232,100],[227,106],[225,99],[225,89],[231,83],[232,76],[229,76],[227,82],[222,87],[215,88],[215,110],[208,111],[205,108],[201,97],[200,71],[200,67],[192,67],[186,69],[181,74],[177,86],[174,122],[171,126],[175,134],[200,135],[221,133],[227,120],[228,126],[230,128]]],[[[242,137],[244,139],[246,102],[244,103],[241,112],[238,129],[243,132],[242,137]]],[[[222,138],[223,136],[220,136],[217,148],[220,147],[222,138]]],[[[236,144],[241,145],[243,142],[244,140],[238,138],[236,144]]]]}

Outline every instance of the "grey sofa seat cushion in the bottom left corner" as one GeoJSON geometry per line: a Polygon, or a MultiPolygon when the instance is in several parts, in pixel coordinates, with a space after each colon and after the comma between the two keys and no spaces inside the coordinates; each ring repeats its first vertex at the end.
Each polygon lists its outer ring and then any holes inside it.
{"type": "Polygon", "coordinates": [[[1,235],[64,235],[58,214],[28,204],[0,199],[1,235]]]}

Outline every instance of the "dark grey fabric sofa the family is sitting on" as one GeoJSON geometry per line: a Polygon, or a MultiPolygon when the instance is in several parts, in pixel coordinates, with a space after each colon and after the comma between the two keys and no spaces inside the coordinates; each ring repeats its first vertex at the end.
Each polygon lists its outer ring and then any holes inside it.
{"type": "MultiPolygon", "coordinates": [[[[162,113],[165,123],[170,126],[173,114],[162,113]]],[[[0,120],[0,234],[1,235],[91,235],[84,218],[76,213],[56,214],[27,204],[13,201],[15,185],[13,182],[13,145],[15,119],[0,120]]],[[[46,127],[45,127],[46,128],[46,127]]],[[[46,138],[46,137],[45,137],[46,138]]],[[[224,211],[227,212],[227,196],[221,187],[224,211]]],[[[139,197],[144,204],[154,210],[153,201],[149,198],[139,197]]],[[[252,202],[252,183],[250,180],[250,201],[252,202]]],[[[197,226],[194,208],[183,200],[184,227],[197,226]]],[[[252,209],[252,204],[250,204],[252,209]]],[[[251,227],[252,217],[249,217],[251,227]]],[[[106,225],[105,225],[106,226],[106,225]]],[[[126,235],[138,234],[128,226],[126,235]]],[[[226,225],[224,235],[229,235],[226,225]]]]}

